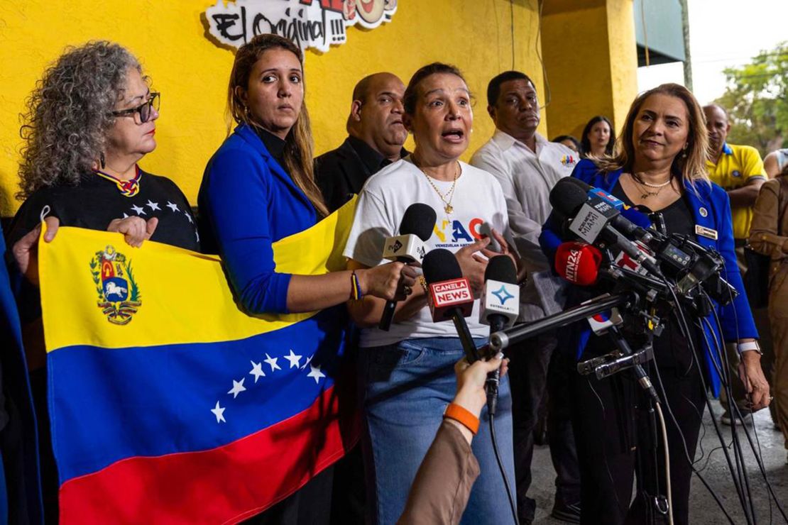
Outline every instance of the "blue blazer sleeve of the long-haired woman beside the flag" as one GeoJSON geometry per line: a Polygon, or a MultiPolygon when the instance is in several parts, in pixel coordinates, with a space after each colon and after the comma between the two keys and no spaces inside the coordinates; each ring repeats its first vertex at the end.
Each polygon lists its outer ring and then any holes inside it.
{"type": "Polygon", "coordinates": [[[232,290],[251,314],[288,312],[292,275],[277,273],[273,262],[272,177],[255,152],[222,147],[203,178],[200,212],[208,216],[232,290]]]}

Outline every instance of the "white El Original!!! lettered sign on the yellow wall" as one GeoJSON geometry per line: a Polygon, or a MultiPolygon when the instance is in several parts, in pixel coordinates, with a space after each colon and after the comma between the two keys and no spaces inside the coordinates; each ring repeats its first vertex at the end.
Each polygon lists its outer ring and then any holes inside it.
{"type": "Polygon", "coordinates": [[[217,0],[205,11],[208,31],[218,42],[240,47],[256,35],[273,33],[302,50],[325,53],[348,40],[346,28],[374,29],[392,20],[397,0],[217,0]]]}

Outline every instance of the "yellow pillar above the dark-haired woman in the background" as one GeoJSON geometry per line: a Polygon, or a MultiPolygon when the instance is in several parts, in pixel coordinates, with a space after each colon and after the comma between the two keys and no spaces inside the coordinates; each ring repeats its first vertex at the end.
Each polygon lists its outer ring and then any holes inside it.
{"type": "Polygon", "coordinates": [[[550,135],[581,139],[595,115],[618,133],[637,94],[633,0],[551,0],[543,14],[550,135]]]}

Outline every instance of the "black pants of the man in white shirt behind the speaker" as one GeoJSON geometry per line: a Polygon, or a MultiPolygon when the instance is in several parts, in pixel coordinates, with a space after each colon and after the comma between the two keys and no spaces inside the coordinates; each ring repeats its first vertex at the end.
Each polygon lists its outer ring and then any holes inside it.
{"type": "Polygon", "coordinates": [[[533,430],[539,419],[539,406],[549,390],[548,439],[550,456],[556,469],[556,500],[567,505],[580,499],[580,478],[574,435],[571,429],[570,397],[566,367],[559,366],[561,352],[556,349],[554,334],[540,335],[513,346],[507,353],[511,384],[512,425],[515,446],[515,485],[520,519],[533,520],[534,503],[526,497],[531,485],[533,430]]]}

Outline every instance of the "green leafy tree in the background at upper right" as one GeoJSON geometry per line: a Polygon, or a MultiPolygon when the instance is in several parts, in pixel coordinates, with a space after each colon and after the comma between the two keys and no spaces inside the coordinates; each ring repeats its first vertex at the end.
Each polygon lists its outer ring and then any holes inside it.
{"type": "Polygon", "coordinates": [[[724,73],[725,93],[714,102],[730,116],[729,141],[754,146],[762,157],[788,146],[788,42],[724,73]]]}

